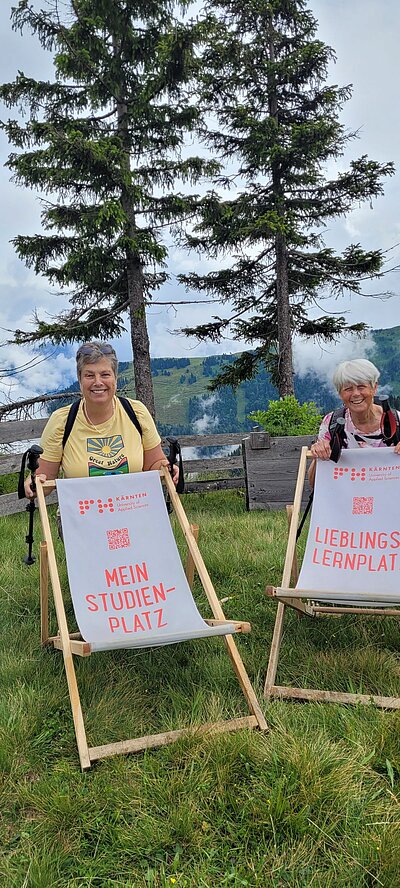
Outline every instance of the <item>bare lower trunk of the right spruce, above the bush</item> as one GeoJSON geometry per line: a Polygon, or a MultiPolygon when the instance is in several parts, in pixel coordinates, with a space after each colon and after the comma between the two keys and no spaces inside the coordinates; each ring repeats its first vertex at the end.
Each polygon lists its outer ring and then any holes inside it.
{"type": "Polygon", "coordinates": [[[293,395],[292,330],[288,282],[288,261],[284,236],[275,237],[276,255],[276,313],[278,323],[278,373],[279,395],[293,395]]]}

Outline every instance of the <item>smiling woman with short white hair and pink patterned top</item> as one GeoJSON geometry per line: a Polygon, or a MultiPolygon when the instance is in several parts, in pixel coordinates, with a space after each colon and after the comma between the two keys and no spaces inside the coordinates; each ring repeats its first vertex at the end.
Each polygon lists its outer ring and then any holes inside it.
{"type": "MultiPolygon", "coordinates": [[[[384,412],[381,404],[374,398],[378,388],[379,370],[365,358],[354,361],[342,361],[333,374],[333,383],[343,402],[344,440],[345,446],[353,447],[385,447],[393,446],[395,453],[400,453],[400,443],[391,444],[384,428],[384,412]]],[[[400,421],[398,411],[397,424],[400,421]]],[[[311,446],[314,462],[308,478],[314,484],[317,459],[330,459],[332,454],[331,436],[332,413],[324,416],[318,439],[311,446]]]]}

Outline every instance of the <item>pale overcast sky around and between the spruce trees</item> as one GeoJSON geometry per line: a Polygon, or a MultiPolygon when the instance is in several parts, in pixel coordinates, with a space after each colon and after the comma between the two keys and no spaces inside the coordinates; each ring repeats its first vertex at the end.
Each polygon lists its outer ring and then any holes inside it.
{"type": "MultiPolygon", "coordinates": [[[[23,36],[11,31],[9,12],[15,0],[2,0],[0,20],[0,81],[15,79],[18,69],[28,76],[45,79],[51,77],[50,58],[36,38],[26,32],[23,36]],[[7,14],[8,13],[8,14],[7,14]]],[[[39,5],[39,4],[38,4],[39,5]]],[[[45,5],[45,4],[43,4],[45,5]]],[[[353,97],[345,106],[342,121],[351,130],[359,130],[359,139],[351,143],[349,153],[341,162],[344,169],[352,158],[368,154],[380,162],[393,161],[396,175],[385,181],[385,194],[373,204],[363,204],[347,218],[332,223],[326,233],[328,245],[343,249],[349,243],[360,242],[364,248],[381,248],[390,251],[389,265],[400,263],[399,183],[400,147],[398,124],[398,84],[400,81],[399,46],[400,4],[398,0],[311,0],[309,7],[319,22],[319,36],[336,52],[337,63],[329,80],[339,85],[351,83],[353,97]],[[393,250],[391,248],[394,247],[393,250]]],[[[0,106],[2,119],[14,116],[0,106]]],[[[16,400],[29,393],[42,393],[61,385],[69,384],[74,378],[73,350],[66,355],[57,355],[40,363],[33,350],[8,346],[6,330],[24,329],[29,324],[34,309],[41,316],[54,314],[65,307],[64,300],[58,300],[51,292],[45,279],[36,278],[21,263],[9,243],[17,234],[40,232],[40,204],[38,196],[25,191],[9,181],[9,171],[3,167],[12,149],[0,133],[0,366],[18,368],[32,361],[28,370],[16,375],[1,374],[0,402],[16,400]],[[2,376],[2,378],[1,378],[2,376]]],[[[332,175],[335,170],[330,171],[332,175]]],[[[170,257],[170,271],[177,274],[193,267],[193,258],[173,250],[170,257]]],[[[204,263],[203,266],[204,268],[204,263]]],[[[207,263],[207,267],[211,267],[207,263]]],[[[388,275],[385,284],[371,284],[372,294],[382,287],[400,293],[399,273],[388,275]]],[[[165,299],[171,293],[169,288],[156,296],[165,299]]],[[[187,298],[182,288],[174,287],[177,297],[187,298]]],[[[188,306],[175,309],[154,306],[148,312],[151,353],[153,357],[171,355],[195,357],[211,354],[213,351],[237,351],[241,345],[225,341],[220,347],[211,344],[198,345],[171,331],[185,324],[195,324],[206,320],[213,312],[210,306],[188,306]]],[[[373,329],[392,327],[400,323],[400,298],[382,301],[361,297],[338,300],[334,310],[340,314],[347,312],[349,321],[365,321],[373,329]]],[[[215,312],[221,310],[215,307],[215,312]]],[[[363,346],[364,348],[364,346],[363,346]]],[[[126,335],[117,344],[121,360],[131,359],[131,346],[126,335]]],[[[298,369],[315,367],[322,375],[330,375],[332,366],[347,356],[361,354],[361,347],[343,341],[331,350],[323,352],[314,345],[296,346],[298,369]]]]}

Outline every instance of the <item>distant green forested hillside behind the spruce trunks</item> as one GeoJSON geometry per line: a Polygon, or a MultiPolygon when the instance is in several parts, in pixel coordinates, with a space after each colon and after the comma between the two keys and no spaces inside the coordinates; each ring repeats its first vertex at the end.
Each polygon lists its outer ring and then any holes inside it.
{"type": "MultiPolygon", "coordinates": [[[[374,330],[371,361],[381,371],[380,382],[400,397],[400,327],[374,330]]],[[[153,358],[151,368],[156,401],[157,425],[163,435],[200,432],[249,431],[247,418],[253,410],[265,410],[270,400],[278,398],[269,374],[261,370],[254,379],[243,382],[236,391],[223,388],[209,392],[207,386],[221,365],[232,363],[235,355],[209,355],[203,358],[153,358]]],[[[315,401],[321,413],[338,403],[328,383],[315,373],[295,376],[297,399],[315,401]]],[[[77,383],[69,391],[76,391],[77,383]]],[[[132,364],[120,363],[119,392],[134,397],[132,364]]],[[[58,405],[59,406],[59,403],[58,405]]]]}

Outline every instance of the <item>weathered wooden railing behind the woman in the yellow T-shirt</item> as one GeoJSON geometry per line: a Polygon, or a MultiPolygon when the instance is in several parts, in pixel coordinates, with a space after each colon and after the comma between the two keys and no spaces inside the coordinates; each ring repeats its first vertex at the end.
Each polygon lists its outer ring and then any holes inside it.
{"type": "MultiPolygon", "coordinates": [[[[37,441],[46,425],[47,419],[26,419],[0,421],[0,476],[11,472],[19,472],[21,457],[30,443],[37,441]],[[7,445],[12,446],[12,452],[5,452],[7,445]]],[[[243,441],[242,432],[227,435],[184,435],[179,437],[182,448],[211,448],[231,446],[239,448],[243,441]]],[[[168,443],[163,440],[163,446],[168,453],[168,443]]],[[[242,456],[205,456],[204,459],[185,459],[184,469],[186,475],[186,491],[191,493],[199,490],[221,490],[245,486],[242,456]],[[235,477],[232,477],[235,470],[235,477]],[[212,475],[220,474],[222,478],[213,478],[212,475]],[[192,476],[196,473],[207,474],[209,480],[198,480],[192,476]]],[[[55,495],[52,494],[55,500],[55,495]]],[[[17,493],[3,494],[0,496],[0,515],[12,515],[15,512],[23,512],[27,501],[19,500],[17,493]]]]}

